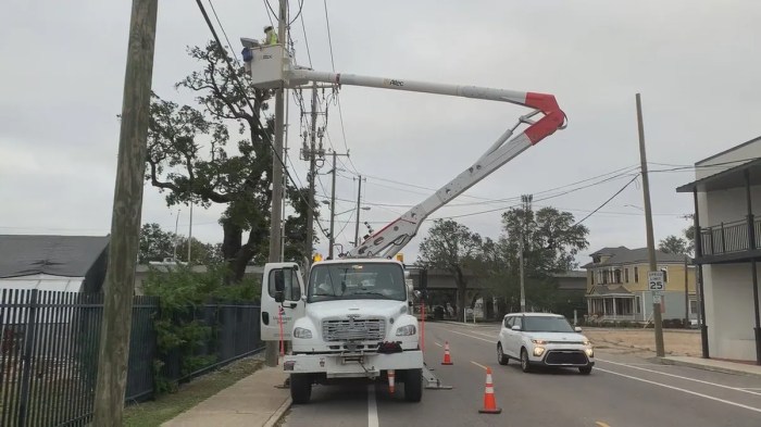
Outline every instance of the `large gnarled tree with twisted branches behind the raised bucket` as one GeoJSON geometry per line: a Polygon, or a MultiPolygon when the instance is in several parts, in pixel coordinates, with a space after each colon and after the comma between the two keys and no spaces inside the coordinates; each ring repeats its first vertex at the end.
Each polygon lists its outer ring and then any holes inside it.
{"type": "MultiPolygon", "coordinates": [[[[170,206],[226,205],[220,218],[222,256],[233,272],[228,279],[239,281],[247,264],[263,263],[269,253],[274,122],[265,112],[271,91],[247,84],[242,67],[230,71],[224,61],[226,52],[213,41],[204,48],[190,48],[188,53],[202,70],[176,87],[195,92],[201,109],[153,98],[146,179],[167,192],[170,206]],[[244,90],[234,76],[247,85],[244,90]],[[237,128],[238,137],[230,136],[230,128],[237,128]],[[248,231],[246,239],[244,231],[248,231]]],[[[286,189],[295,211],[285,218],[290,226],[286,254],[295,260],[305,255],[309,206],[300,202],[302,194],[290,186],[286,189]]]]}

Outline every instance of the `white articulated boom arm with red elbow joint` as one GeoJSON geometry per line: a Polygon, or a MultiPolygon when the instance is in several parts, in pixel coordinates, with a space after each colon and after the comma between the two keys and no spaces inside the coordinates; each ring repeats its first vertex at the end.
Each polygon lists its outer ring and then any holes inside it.
{"type": "Polygon", "coordinates": [[[422,222],[439,208],[473,187],[476,183],[536,145],[556,130],[565,127],[565,114],[558,106],[554,97],[546,93],[519,92],[504,89],[491,89],[476,86],[441,85],[425,81],[400,80],[382,77],[358,76],[353,74],[324,73],[312,70],[288,70],[288,86],[299,86],[307,81],[323,81],[336,85],[376,87],[382,89],[407,90],[476,98],[533,108],[534,111],[521,116],[513,127],[506,130],[478,160],[454,179],[441,187],[422,203],[413,206],[396,221],[375,233],[357,248],[351,249],[347,258],[391,258],[403,248],[420,229],[422,222]],[[542,116],[534,121],[537,114],[542,116]],[[527,124],[517,136],[513,133],[521,124],[527,124]]]}

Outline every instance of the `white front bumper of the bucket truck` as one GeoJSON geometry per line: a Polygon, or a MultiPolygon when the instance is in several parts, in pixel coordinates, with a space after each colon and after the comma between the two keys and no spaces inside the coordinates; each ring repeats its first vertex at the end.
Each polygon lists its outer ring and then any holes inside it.
{"type": "Polygon", "coordinates": [[[382,371],[423,367],[420,350],[401,353],[342,353],[286,355],[283,368],[292,374],[325,374],[327,378],[375,378],[382,371]]]}

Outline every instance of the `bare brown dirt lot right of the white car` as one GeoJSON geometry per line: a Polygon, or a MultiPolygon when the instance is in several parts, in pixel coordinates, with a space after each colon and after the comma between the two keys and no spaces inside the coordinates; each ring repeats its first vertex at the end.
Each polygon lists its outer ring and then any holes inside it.
{"type": "MultiPolygon", "coordinates": [[[[584,328],[583,334],[596,349],[609,353],[637,353],[656,355],[653,329],[604,329],[584,328]],[[648,354],[649,353],[649,354],[648,354]]],[[[700,356],[700,334],[696,330],[663,331],[663,347],[668,355],[700,356]]]]}

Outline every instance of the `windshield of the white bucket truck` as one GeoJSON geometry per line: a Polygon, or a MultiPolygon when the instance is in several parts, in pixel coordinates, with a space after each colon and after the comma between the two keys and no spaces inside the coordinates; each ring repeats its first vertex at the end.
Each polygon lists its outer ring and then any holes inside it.
{"type": "Polygon", "coordinates": [[[404,301],[404,272],[397,264],[317,264],[309,277],[309,302],[358,299],[404,301]]]}

